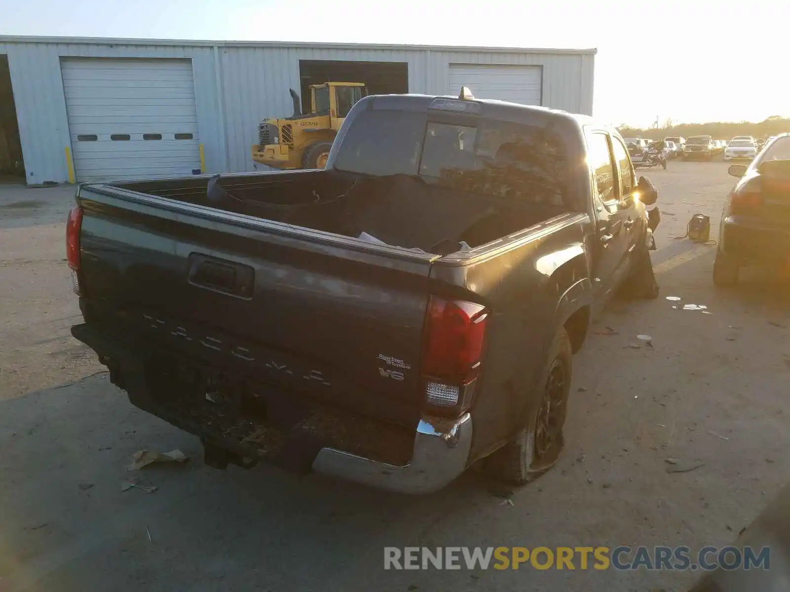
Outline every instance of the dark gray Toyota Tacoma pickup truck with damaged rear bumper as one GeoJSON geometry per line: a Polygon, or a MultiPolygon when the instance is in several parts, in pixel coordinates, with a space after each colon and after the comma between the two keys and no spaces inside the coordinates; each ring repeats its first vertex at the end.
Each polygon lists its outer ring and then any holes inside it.
{"type": "Polygon", "coordinates": [[[656,297],[655,199],[590,118],[369,96],[325,170],[80,185],[72,333],[211,466],[525,483],[562,449],[591,317],[656,297]]]}

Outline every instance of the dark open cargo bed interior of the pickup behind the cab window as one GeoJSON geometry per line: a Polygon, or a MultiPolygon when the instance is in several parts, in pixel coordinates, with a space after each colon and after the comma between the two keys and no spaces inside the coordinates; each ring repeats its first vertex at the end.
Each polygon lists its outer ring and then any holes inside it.
{"type": "Polygon", "coordinates": [[[448,244],[475,248],[567,212],[407,176],[360,178],[324,170],[231,175],[220,179],[213,198],[210,183],[198,178],[115,186],[351,238],[366,233],[389,245],[439,254],[448,253],[448,244]]]}

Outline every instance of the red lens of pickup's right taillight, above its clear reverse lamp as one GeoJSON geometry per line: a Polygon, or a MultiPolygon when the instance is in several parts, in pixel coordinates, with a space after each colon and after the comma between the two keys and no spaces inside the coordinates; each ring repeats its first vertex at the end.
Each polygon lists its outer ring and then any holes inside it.
{"type": "Polygon", "coordinates": [[[431,296],[423,376],[459,386],[474,380],[480,371],[487,316],[479,304],[431,296]]]}

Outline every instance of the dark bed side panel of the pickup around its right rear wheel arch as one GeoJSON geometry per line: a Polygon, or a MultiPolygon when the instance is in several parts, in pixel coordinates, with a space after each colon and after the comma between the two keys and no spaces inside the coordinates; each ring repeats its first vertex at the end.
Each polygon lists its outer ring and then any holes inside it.
{"type": "Polygon", "coordinates": [[[462,286],[466,294],[457,294],[459,298],[491,309],[472,407],[470,462],[525,424],[534,407],[530,403],[537,393],[536,380],[547,362],[547,345],[574,312],[561,303],[589,302],[589,290],[584,293],[589,282],[579,280],[587,276],[585,237],[590,232],[589,215],[571,213],[504,238],[499,248],[476,249],[480,255],[472,252],[434,263],[431,279],[462,286]],[[563,298],[574,283],[581,293],[563,298]]]}

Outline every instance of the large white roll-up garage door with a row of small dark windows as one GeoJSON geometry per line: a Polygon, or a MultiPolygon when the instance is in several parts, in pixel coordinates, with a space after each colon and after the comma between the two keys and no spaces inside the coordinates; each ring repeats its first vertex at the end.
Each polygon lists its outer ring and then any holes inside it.
{"type": "Polygon", "coordinates": [[[191,60],[68,58],[61,69],[77,181],[200,172],[191,60]]]}

